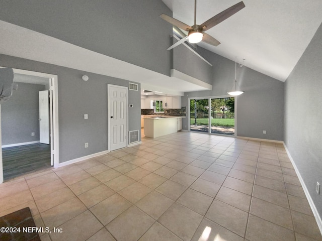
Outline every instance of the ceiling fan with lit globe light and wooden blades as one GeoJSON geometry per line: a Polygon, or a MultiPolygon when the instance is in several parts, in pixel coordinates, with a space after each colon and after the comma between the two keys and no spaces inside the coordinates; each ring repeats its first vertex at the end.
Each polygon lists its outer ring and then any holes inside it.
{"type": "MultiPolygon", "coordinates": [[[[216,16],[208,19],[206,22],[204,22],[201,25],[196,24],[196,13],[197,13],[197,0],[195,0],[195,22],[193,26],[189,26],[175,18],[172,18],[166,14],[160,15],[160,17],[170,24],[174,25],[175,27],[178,27],[182,30],[185,30],[188,32],[188,36],[186,36],[181,31],[181,35],[184,36],[181,40],[176,42],[174,45],[170,46],[167,50],[173,49],[174,47],[184,43],[185,41],[189,41],[191,44],[199,43],[201,41],[217,46],[220,44],[218,40],[210,36],[209,34],[204,33],[205,31],[211,29],[212,27],[216,26],[217,24],[221,23],[222,21],[226,20],[230,16],[237,13],[239,10],[245,8],[245,4],[243,2],[240,2],[238,4],[235,4],[231,6],[230,8],[222,11],[221,13],[217,14],[216,16]]],[[[177,28],[176,28],[177,29],[177,28]]],[[[177,29],[178,30],[178,29],[177,29]]]]}

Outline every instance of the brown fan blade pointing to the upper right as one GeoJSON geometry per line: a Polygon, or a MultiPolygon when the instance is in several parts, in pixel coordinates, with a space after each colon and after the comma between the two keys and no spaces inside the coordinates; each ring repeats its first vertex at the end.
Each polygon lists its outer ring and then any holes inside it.
{"type": "Polygon", "coordinates": [[[231,6],[230,8],[222,11],[220,14],[217,14],[216,16],[212,17],[211,19],[207,20],[200,26],[203,28],[203,31],[209,30],[210,28],[216,26],[217,24],[221,23],[222,21],[228,19],[230,16],[237,13],[239,10],[245,8],[245,4],[243,2],[240,2],[238,4],[235,4],[234,6],[231,6]]]}

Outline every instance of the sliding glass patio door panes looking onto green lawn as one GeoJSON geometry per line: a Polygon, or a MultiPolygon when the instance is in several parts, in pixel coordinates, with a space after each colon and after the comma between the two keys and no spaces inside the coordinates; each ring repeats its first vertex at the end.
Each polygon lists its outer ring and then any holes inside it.
{"type": "Polygon", "coordinates": [[[190,99],[190,131],[234,135],[234,97],[190,99]],[[210,128],[209,128],[210,127],[210,128]]]}

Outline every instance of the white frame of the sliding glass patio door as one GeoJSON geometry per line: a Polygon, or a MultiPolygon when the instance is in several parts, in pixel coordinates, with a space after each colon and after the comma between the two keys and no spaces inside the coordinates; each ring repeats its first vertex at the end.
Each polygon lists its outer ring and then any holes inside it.
{"type": "Polygon", "coordinates": [[[208,99],[209,103],[210,103],[210,100],[211,99],[221,99],[221,98],[231,98],[231,97],[234,97],[235,98],[235,101],[234,101],[234,108],[235,108],[235,117],[234,117],[234,134],[233,136],[232,135],[225,135],[225,134],[215,134],[215,133],[211,133],[211,121],[210,121],[210,118],[209,116],[211,116],[211,108],[208,109],[208,125],[209,125],[209,130],[208,132],[204,132],[204,134],[210,134],[210,135],[217,135],[217,136],[226,136],[226,137],[237,137],[237,128],[236,128],[236,123],[237,123],[237,114],[236,114],[236,102],[237,102],[237,96],[231,96],[231,95],[219,95],[219,96],[205,96],[205,97],[189,97],[188,98],[188,110],[187,110],[187,113],[189,115],[189,118],[188,118],[188,131],[190,131],[190,100],[192,99],[208,99]]]}

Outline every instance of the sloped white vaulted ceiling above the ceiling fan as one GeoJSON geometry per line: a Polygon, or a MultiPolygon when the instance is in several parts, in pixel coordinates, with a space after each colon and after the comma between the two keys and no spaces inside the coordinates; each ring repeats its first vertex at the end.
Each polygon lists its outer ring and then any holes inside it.
{"type": "MultiPolygon", "coordinates": [[[[194,24],[194,0],[162,0],[173,18],[194,24]]],[[[240,0],[197,0],[197,24],[240,0]]],[[[213,27],[207,34],[217,47],[201,47],[232,61],[285,81],[322,22],[321,0],[244,0],[246,7],[213,27]]]]}

